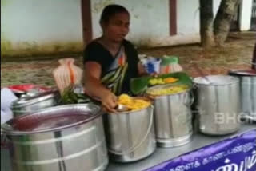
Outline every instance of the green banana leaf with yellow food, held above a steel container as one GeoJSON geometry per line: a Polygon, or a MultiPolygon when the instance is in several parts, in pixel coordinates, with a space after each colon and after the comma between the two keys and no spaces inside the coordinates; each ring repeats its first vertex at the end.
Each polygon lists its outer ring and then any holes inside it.
{"type": "MultiPolygon", "coordinates": [[[[185,72],[177,72],[171,74],[161,74],[157,78],[178,78],[178,82],[171,83],[171,85],[188,85],[192,86],[192,79],[185,72]]],[[[146,76],[141,78],[132,78],[130,80],[130,90],[134,95],[142,94],[146,92],[146,89],[150,88],[150,79],[155,78],[154,76],[146,76]]],[[[170,84],[168,84],[170,85],[170,84]]]]}

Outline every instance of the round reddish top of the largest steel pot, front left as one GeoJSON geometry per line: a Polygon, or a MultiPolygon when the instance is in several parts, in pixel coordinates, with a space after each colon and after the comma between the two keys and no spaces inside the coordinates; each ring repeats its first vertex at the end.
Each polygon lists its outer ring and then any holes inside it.
{"type": "Polygon", "coordinates": [[[2,125],[2,132],[22,135],[58,131],[84,124],[101,115],[102,109],[98,105],[60,105],[14,117],[2,125]]]}

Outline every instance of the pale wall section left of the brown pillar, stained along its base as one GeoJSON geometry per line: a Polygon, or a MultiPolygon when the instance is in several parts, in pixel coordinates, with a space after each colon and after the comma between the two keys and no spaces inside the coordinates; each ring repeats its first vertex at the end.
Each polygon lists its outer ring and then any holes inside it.
{"type": "Polygon", "coordinates": [[[80,0],[1,0],[1,54],[82,50],[80,0]]]}

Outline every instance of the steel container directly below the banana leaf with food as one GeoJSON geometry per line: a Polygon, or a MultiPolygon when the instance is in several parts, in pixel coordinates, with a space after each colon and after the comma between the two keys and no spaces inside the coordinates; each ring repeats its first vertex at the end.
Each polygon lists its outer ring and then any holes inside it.
{"type": "MultiPolygon", "coordinates": [[[[152,89],[162,88],[165,86],[152,89]]],[[[150,89],[147,93],[150,94],[150,89]]],[[[193,101],[190,89],[184,90],[182,93],[154,97],[154,123],[158,146],[176,147],[186,145],[192,140],[190,105],[193,101]]]]}

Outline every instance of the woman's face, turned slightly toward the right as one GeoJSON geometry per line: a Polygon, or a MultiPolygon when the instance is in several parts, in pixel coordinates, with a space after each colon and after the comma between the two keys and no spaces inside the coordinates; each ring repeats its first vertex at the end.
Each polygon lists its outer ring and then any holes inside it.
{"type": "Polygon", "coordinates": [[[102,24],[103,35],[112,42],[122,42],[129,32],[130,16],[126,12],[117,13],[102,24]]]}

